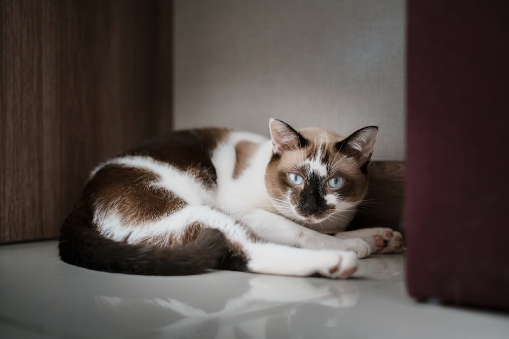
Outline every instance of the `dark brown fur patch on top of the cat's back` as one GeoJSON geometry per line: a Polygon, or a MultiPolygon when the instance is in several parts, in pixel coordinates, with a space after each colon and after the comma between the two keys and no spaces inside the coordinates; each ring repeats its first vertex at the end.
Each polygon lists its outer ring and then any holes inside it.
{"type": "Polygon", "coordinates": [[[228,129],[218,128],[173,132],[151,139],[124,154],[149,156],[171,164],[181,171],[193,173],[206,187],[212,188],[217,180],[212,152],[229,133],[228,129]]]}

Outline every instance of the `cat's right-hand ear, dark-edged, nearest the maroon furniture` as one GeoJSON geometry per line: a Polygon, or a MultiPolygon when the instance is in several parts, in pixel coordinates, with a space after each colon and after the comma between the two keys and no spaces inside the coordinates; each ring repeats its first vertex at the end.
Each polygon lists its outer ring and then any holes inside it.
{"type": "Polygon", "coordinates": [[[378,127],[368,126],[352,133],[348,138],[336,144],[337,150],[354,157],[361,167],[370,162],[373,147],[377,139],[378,127]]]}

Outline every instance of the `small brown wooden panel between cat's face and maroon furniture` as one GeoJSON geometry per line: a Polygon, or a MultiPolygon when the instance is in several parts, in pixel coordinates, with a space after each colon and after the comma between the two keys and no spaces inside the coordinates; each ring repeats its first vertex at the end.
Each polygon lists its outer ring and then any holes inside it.
{"type": "Polygon", "coordinates": [[[403,231],[402,214],[405,191],[405,164],[397,161],[372,161],[368,165],[370,187],[358,207],[349,230],[389,227],[403,231]]]}

